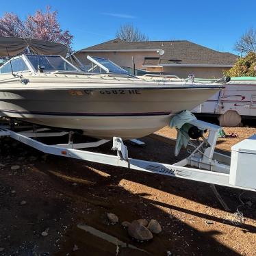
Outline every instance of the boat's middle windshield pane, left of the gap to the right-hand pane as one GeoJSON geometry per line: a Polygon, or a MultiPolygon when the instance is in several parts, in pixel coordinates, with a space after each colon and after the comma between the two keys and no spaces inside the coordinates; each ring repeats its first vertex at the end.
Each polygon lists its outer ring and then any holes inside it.
{"type": "Polygon", "coordinates": [[[38,71],[78,71],[73,65],[69,64],[59,55],[27,55],[32,66],[38,71]]]}

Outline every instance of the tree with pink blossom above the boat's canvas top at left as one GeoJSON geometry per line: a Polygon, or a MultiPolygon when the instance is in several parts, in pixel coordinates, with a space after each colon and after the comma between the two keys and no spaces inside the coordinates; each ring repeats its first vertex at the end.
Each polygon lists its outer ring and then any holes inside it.
{"type": "Polygon", "coordinates": [[[52,12],[49,6],[47,6],[46,12],[37,10],[34,15],[28,15],[24,21],[14,13],[6,12],[0,18],[0,36],[60,42],[68,48],[71,48],[73,40],[70,31],[60,28],[60,23],[57,21],[57,11],[52,12]]]}

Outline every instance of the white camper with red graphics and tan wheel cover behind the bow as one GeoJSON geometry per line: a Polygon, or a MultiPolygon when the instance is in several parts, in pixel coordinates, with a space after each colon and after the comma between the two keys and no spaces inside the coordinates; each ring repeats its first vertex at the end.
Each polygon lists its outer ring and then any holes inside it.
{"type": "MultiPolygon", "coordinates": [[[[196,79],[214,82],[214,79],[196,79]]],[[[237,126],[242,118],[256,118],[256,77],[231,77],[231,81],[192,112],[218,116],[221,126],[237,126]]]]}

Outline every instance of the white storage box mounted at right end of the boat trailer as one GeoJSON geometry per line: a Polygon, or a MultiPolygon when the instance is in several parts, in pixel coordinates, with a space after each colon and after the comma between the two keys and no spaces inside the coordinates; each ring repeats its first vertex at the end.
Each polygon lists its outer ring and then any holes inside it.
{"type": "Polygon", "coordinates": [[[256,189],[256,134],[231,147],[229,183],[256,189]]]}

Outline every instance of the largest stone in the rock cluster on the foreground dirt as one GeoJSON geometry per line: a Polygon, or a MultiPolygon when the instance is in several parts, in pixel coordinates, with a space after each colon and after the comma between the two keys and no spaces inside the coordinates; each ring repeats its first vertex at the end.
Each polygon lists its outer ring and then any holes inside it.
{"type": "Polygon", "coordinates": [[[141,225],[138,220],[133,220],[133,222],[131,222],[131,225],[128,227],[128,233],[132,238],[135,238],[136,240],[144,241],[151,240],[153,238],[151,231],[141,225]]]}

